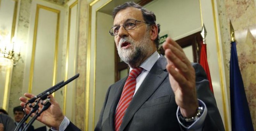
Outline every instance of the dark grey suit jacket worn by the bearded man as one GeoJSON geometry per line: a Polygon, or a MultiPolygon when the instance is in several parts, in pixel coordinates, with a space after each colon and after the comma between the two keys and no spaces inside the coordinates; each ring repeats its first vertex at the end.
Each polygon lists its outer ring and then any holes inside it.
{"type": "MultiPolygon", "coordinates": [[[[176,117],[177,105],[171,89],[166,58],[154,64],[126,110],[120,131],[179,131],[182,130],[176,117]]],[[[213,94],[209,90],[204,69],[192,64],[196,75],[197,97],[208,109],[203,124],[204,131],[224,131],[220,113],[213,94]]],[[[114,114],[127,77],[111,85],[99,116],[95,131],[114,131],[114,114]]]]}

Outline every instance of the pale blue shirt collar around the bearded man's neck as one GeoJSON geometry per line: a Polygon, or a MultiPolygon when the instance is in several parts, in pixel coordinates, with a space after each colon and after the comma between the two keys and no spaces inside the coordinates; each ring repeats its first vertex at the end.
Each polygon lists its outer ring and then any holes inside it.
{"type": "MultiPolygon", "coordinates": [[[[159,57],[160,55],[158,54],[158,52],[154,52],[152,55],[150,55],[150,57],[148,57],[144,62],[142,62],[142,64],[140,64],[140,67],[142,67],[146,71],[150,71],[159,57]]],[[[132,69],[133,68],[130,68],[130,71],[132,69]]]]}

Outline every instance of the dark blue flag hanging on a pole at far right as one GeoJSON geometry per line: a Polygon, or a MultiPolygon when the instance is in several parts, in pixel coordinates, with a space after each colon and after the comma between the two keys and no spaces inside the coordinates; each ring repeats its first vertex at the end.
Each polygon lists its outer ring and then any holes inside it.
{"type": "Polygon", "coordinates": [[[254,131],[251,114],[239,70],[235,42],[231,42],[230,56],[230,104],[232,131],[254,131]]]}

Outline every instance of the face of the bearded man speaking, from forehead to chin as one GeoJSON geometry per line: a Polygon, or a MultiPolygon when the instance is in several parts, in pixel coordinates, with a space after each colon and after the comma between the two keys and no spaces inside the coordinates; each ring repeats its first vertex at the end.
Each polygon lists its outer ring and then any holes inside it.
{"type": "MultiPolygon", "coordinates": [[[[116,14],[114,25],[123,25],[129,19],[144,21],[141,10],[128,7],[116,14]]],[[[136,64],[141,64],[155,51],[149,29],[144,22],[136,22],[136,26],[130,30],[121,26],[118,34],[114,36],[120,58],[130,66],[139,66],[136,64]]]]}

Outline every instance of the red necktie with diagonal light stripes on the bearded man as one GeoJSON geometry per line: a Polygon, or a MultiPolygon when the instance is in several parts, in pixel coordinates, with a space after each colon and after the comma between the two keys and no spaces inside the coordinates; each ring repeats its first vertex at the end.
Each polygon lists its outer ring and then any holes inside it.
{"type": "Polygon", "coordinates": [[[123,117],[125,116],[125,111],[129,106],[136,87],[136,78],[142,72],[142,67],[137,67],[131,70],[123,88],[121,98],[118,103],[115,114],[115,131],[119,131],[122,124],[123,117]]]}

